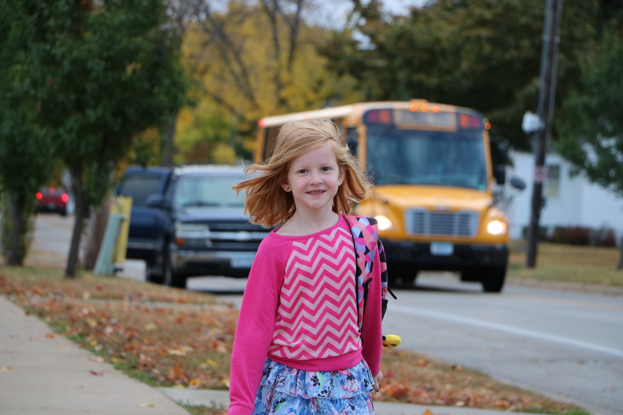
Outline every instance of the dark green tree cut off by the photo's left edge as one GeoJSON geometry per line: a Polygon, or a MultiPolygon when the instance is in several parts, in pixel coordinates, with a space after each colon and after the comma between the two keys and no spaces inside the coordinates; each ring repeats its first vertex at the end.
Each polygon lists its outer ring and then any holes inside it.
{"type": "Polygon", "coordinates": [[[29,75],[38,69],[30,47],[34,28],[22,26],[20,2],[0,1],[0,242],[7,264],[26,257],[35,208],[34,195],[52,173],[55,159],[50,137],[36,123],[39,106],[24,100],[36,85],[29,75]]]}

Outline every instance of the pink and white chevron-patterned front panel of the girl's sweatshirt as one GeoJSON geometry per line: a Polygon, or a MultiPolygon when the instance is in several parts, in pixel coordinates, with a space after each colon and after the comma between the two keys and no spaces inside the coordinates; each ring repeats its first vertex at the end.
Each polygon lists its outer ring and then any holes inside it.
{"type": "Polygon", "coordinates": [[[269,357],[310,360],[361,348],[355,268],[348,229],[293,241],[269,357]]]}

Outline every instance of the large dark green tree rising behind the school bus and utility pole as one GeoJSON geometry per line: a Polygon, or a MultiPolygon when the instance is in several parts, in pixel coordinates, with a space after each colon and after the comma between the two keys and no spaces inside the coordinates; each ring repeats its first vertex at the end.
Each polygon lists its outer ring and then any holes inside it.
{"type": "MultiPolygon", "coordinates": [[[[578,75],[576,54],[594,38],[595,3],[565,1],[561,96],[578,75]]],[[[490,119],[492,136],[530,148],[520,126],[525,111],[536,110],[545,0],[438,0],[408,16],[384,14],[379,0],[353,4],[351,23],[323,53],[331,69],[358,80],[366,100],[475,108],[490,119]],[[356,32],[369,41],[355,40],[356,32]]]]}

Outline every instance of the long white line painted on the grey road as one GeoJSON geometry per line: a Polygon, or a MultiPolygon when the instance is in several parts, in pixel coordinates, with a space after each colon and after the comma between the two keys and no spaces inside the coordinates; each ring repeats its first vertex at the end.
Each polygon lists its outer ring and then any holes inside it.
{"type": "Polygon", "coordinates": [[[562,343],[574,347],[585,348],[587,350],[593,350],[594,352],[607,353],[608,355],[623,357],[623,350],[616,348],[603,347],[594,345],[592,343],[580,342],[579,340],[573,340],[572,338],[560,337],[546,333],[534,332],[532,330],[519,329],[518,327],[512,327],[510,325],[491,323],[483,320],[470,319],[468,317],[460,317],[459,315],[452,315],[441,313],[438,311],[430,311],[424,309],[415,309],[413,307],[404,307],[404,305],[389,305],[389,310],[401,312],[404,314],[418,315],[421,317],[430,317],[432,319],[440,319],[451,321],[460,324],[473,325],[475,327],[483,327],[484,329],[498,330],[498,332],[506,332],[518,334],[526,337],[539,338],[541,340],[548,340],[549,342],[562,343]]]}

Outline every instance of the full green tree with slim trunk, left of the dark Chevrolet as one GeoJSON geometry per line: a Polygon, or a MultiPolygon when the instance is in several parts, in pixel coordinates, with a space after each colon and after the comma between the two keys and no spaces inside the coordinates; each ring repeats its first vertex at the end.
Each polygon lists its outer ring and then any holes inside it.
{"type": "Polygon", "coordinates": [[[75,225],[65,276],[74,277],[83,220],[110,189],[133,138],[176,113],[184,99],[178,39],[161,0],[23,2],[34,27],[43,85],[37,119],[72,174],[75,225]]]}

